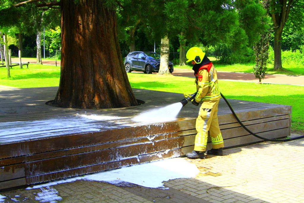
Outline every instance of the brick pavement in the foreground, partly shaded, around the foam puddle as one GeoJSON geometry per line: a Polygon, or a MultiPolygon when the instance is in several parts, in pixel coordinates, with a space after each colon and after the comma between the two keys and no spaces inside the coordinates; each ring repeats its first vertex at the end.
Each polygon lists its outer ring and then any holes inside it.
{"type": "MultiPolygon", "coordinates": [[[[58,199],[48,202],[304,203],[303,147],[303,139],[261,142],[225,149],[225,156],[187,159],[200,173],[164,182],[168,190],[86,180],[57,184],[47,189],[57,192],[58,199]]],[[[0,194],[7,197],[3,202],[38,203],[43,202],[39,201],[42,190],[19,188],[0,194]]]]}

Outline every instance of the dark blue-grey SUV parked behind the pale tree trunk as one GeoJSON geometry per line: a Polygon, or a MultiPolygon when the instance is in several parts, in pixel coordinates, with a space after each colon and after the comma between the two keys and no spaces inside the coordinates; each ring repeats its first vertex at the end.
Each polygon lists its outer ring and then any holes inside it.
{"type": "MultiPolygon", "coordinates": [[[[133,51],[125,58],[126,72],[143,71],[151,74],[159,71],[161,56],[155,52],[133,51]]],[[[173,72],[173,63],[169,61],[169,71],[173,72]]]]}

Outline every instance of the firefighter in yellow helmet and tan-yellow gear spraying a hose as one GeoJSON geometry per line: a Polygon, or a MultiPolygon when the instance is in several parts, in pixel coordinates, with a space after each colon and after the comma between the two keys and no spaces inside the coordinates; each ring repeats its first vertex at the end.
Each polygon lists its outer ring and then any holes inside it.
{"type": "MultiPolygon", "coordinates": [[[[214,65],[199,47],[192,47],[187,51],[187,61],[192,61],[195,75],[195,84],[198,93],[192,104],[198,106],[199,115],[196,119],[194,150],[186,154],[190,158],[205,159],[208,131],[212,141],[212,149],[206,154],[223,156],[224,142],[217,117],[219,99],[221,97],[214,65]]],[[[185,94],[184,96],[188,96],[185,94]]]]}

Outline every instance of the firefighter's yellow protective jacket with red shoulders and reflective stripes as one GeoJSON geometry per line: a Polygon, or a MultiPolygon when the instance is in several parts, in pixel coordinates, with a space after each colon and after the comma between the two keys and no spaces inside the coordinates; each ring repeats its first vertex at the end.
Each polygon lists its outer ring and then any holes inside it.
{"type": "Polygon", "coordinates": [[[217,72],[212,62],[201,66],[195,77],[196,89],[198,91],[195,96],[196,102],[214,101],[221,98],[217,72]]]}

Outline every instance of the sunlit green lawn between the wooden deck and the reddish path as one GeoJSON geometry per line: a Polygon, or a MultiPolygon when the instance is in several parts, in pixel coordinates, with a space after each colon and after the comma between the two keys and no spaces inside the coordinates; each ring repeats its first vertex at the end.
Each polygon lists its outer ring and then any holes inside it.
{"type": "MultiPolygon", "coordinates": [[[[28,69],[13,67],[13,69],[10,69],[10,73],[11,78],[7,79],[6,68],[0,68],[0,85],[18,88],[59,85],[59,66],[30,64],[28,69]]],[[[194,78],[132,72],[128,73],[128,77],[133,88],[174,93],[195,92],[194,78]]],[[[227,99],[291,105],[292,130],[304,132],[304,86],[223,80],[219,81],[219,86],[227,99]]]]}

